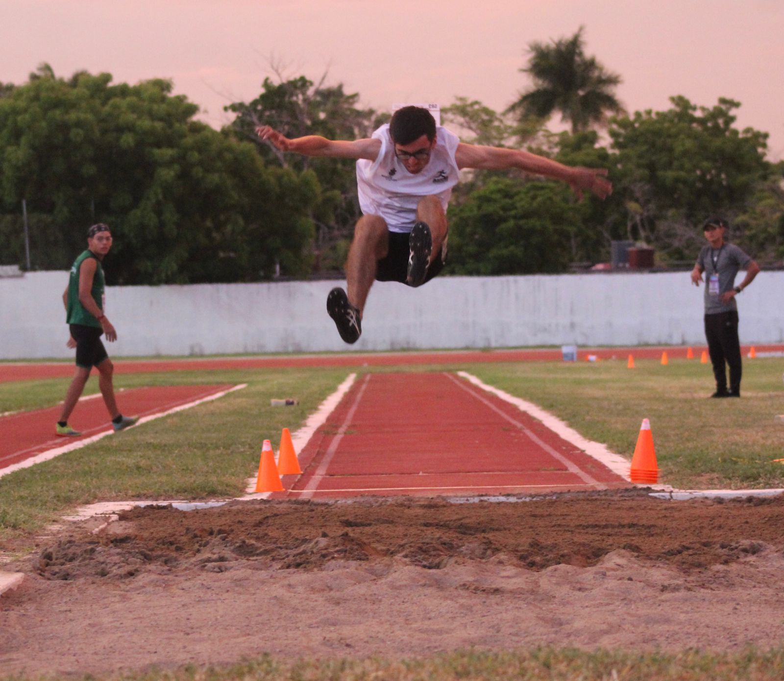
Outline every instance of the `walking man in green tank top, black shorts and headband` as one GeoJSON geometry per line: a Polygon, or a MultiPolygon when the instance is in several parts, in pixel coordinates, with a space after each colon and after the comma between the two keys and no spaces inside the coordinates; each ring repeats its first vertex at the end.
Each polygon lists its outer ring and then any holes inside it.
{"type": "Polygon", "coordinates": [[[103,313],[105,284],[101,261],[110,248],[109,227],[103,223],[90,227],[87,232],[87,250],[79,255],[71,266],[68,288],[63,293],[66,321],[71,331],[67,346],[76,348],[76,373],[71,386],[68,387],[60,421],[57,422],[56,433],[60,436],[82,435],[68,425],[68,418],[85,389],[93,367],[98,369],[98,386],[103,403],[111,415],[114,430],[128,428],[139,420],[138,416],[123,416],[117,408],[112,381],[114,364],[111,363],[100,339],[101,335],[105,334],[107,341],[117,340],[117,331],[114,331],[111,321],[103,313]]]}

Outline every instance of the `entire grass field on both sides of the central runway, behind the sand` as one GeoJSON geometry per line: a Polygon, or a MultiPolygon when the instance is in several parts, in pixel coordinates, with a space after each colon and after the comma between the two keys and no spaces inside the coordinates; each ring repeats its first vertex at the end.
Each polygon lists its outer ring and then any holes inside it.
{"type": "MultiPolygon", "coordinates": [[[[652,424],[660,481],[684,488],[784,487],[784,359],[744,363],[740,400],[706,399],[710,366],[699,360],[521,362],[366,368],[367,371],[457,371],[554,413],[590,440],[631,458],[641,421],[652,424]]],[[[0,545],[40,531],[69,509],[96,501],[225,498],[244,492],[263,440],[277,446],[284,426],[297,429],[351,368],[176,371],[118,375],[118,388],[247,382],[249,386],[122,436],[72,451],[0,478],[0,545]],[[294,408],[271,397],[297,397],[294,408]]],[[[56,404],[69,379],[0,383],[0,404],[56,404]]],[[[86,392],[96,391],[90,379],[86,392]]],[[[122,394],[122,393],[121,393],[122,394]]],[[[122,397],[121,397],[122,406],[122,397]]]]}

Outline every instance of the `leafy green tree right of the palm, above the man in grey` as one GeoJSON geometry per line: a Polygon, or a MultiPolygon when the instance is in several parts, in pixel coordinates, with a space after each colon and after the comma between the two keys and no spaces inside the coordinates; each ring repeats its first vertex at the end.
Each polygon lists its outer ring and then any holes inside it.
{"type": "Polygon", "coordinates": [[[670,259],[690,259],[706,216],[746,211],[769,176],[768,133],[735,129],[739,102],[698,107],[683,96],[665,111],[637,111],[609,128],[615,192],[626,196],[629,237],[670,259]]]}

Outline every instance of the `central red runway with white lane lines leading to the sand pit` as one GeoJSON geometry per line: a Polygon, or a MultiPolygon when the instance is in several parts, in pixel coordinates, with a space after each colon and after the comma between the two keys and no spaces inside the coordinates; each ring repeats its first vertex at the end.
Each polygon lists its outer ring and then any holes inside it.
{"type": "Polygon", "coordinates": [[[630,487],[514,405],[452,373],[366,374],[284,476],[288,498],[630,487]]]}

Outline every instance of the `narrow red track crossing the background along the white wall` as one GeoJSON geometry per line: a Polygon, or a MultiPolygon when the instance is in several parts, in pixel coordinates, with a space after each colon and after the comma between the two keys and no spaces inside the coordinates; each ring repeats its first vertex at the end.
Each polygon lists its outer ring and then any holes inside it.
{"type": "MultiPolygon", "coordinates": [[[[685,347],[612,347],[581,348],[579,360],[587,355],[600,359],[626,360],[632,354],[635,359],[659,359],[666,351],[670,359],[686,357],[685,347]]],[[[705,348],[695,346],[695,357],[699,358],[705,348]]],[[[743,346],[744,356],[748,346],[743,346]]],[[[755,346],[757,352],[784,350],[782,345],[755,346]]],[[[217,371],[223,369],[256,369],[287,367],[361,367],[361,366],[405,366],[419,364],[465,364],[471,362],[527,362],[561,360],[561,350],[444,350],[441,352],[410,353],[336,353],[325,355],[281,355],[274,357],[216,357],[186,360],[113,360],[115,374],[140,374],[169,371],[217,371]]],[[[699,359],[698,359],[699,361],[699,359]]],[[[57,379],[74,375],[74,364],[69,362],[45,362],[5,364],[0,362],[0,383],[29,381],[34,379],[57,379]]]]}

